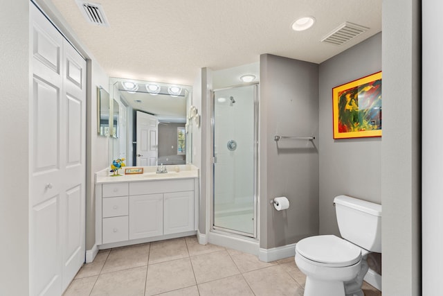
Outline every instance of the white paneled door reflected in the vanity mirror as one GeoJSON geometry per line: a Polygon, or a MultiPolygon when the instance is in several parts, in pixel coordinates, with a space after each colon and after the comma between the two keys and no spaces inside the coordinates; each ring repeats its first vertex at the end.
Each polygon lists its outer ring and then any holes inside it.
{"type": "Polygon", "coordinates": [[[137,166],[156,166],[159,153],[159,119],[144,112],[136,112],[137,166]]]}

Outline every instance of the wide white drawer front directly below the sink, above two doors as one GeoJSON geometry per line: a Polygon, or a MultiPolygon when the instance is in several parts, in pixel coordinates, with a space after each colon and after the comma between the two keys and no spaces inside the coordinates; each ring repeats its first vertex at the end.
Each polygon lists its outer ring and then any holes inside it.
{"type": "Polygon", "coordinates": [[[194,179],[134,182],[129,184],[129,195],[194,191],[194,179]]]}

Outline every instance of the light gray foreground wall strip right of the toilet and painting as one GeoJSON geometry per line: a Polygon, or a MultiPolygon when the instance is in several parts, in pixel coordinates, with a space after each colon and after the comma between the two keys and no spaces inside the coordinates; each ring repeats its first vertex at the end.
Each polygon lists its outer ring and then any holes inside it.
{"type": "MultiPolygon", "coordinates": [[[[381,143],[383,295],[422,293],[421,3],[390,0],[383,1],[382,6],[383,98],[386,98],[381,143]]],[[[441,67],[440,61],[433,62],[441,67]]],[[[433,87],[440,84],[437,81],[433,87]]],[[[433,128],[438,132],[437,127],[433,128]]],[[[433,290],[424,295],[435,293],[433,290]]]]}

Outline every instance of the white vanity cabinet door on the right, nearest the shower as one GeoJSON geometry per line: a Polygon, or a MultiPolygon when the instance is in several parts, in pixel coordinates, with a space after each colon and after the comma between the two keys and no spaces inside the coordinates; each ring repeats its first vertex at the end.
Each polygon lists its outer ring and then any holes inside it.
{"type": "Polygon", "coordinates": [[[194,230],[194,191],[165,193],[164,234],[194,230]]]}

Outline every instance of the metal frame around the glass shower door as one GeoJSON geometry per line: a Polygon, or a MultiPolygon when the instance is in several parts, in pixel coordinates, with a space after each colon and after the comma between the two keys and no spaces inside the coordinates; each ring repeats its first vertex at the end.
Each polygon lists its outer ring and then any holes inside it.
{"type": "Polygon", "coordinates": [[[210,117],[210,138],[211,138],[211,198],[210,198],[210,232],[215,232],[218,234],[228,234],[232,236],[239,236],[242,238],[247,239],[259,239],[258,237],[258,230],[259,230],[259,223],[258,223],[258,178],[259,178],[259,115],[260,115],[260,105],[259,105],[259,82],[250,82],[250,83],[244,83],[242,85],[233,85],[231,87],[224,87],[220,89],[213,89],[211,91],[211,117],[210,117]],[[253,151],[254,151],[254,157],[253,157],[253,234],[247,233],[247,232],[241,232],[234,229],[228,229],[225,227],[219,227],[215,225],[215,164],[216,164],[216,156],[215,156],[215,93],[219,91],[224,91],[227,89],[237,89],[239,87],[248,87],[253,86],[253,105],[254,105],[254,119],[253,119],[253,151]]]}

